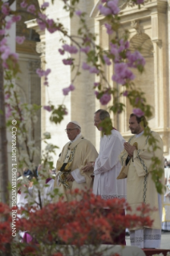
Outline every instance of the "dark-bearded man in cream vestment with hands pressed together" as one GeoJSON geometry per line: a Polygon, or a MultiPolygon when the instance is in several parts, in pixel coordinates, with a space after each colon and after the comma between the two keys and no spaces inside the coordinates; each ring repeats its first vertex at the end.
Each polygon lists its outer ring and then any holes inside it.
{"type": "MultiPolygon", "coordinates": [[[[149,204],[152,208],[156,207],[157,209],[149,214],[149,217],[154,220],[152,228],[144,226],[142,229],[136,227],[136,229],[130,230],[131,245],[140,248],[160,248],[163,198],[156,192],[150,166],[152,165],[152,156],[155,155],[161,161],[160,167],[164,169],[163,142],[159,134],[151,131],[159,146],[153,152],[152,147],[148,144],[149,136],[144,136],[146,125],[144,116],[138,117],[131,114],[129,128],[134,136],[124,143],[124,150],[120,155],[123,168],[118,179],[127,177],[127,203],[132,207],[132,213],[137,213],[136,208],[141,203],[149,204]]],[[[164,177],[160,182],[164,184],[164,177]]]]}

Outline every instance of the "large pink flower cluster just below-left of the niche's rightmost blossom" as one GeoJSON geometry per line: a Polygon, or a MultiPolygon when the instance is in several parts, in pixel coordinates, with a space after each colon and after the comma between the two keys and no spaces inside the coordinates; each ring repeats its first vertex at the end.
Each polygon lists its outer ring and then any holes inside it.
{"type": "Polygon", "coordinates": [[[135,79],[135,75],[128,69],[127,63],[115,63],[115,75],[112,75],[111,79],[116,83],[124,84],[126,79],[135,79]]]}

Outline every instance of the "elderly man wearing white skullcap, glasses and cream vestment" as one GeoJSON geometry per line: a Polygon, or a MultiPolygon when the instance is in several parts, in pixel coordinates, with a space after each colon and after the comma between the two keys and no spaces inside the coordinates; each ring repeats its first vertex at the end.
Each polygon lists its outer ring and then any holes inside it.
{"type": "Polygon", "coordinates": [[[67,124],[66,132],[70,141],[63,147],[57,161],[55,187],[63,194],[65,201],[71,201],[75,199],[71,194],[74,189],[92,188],[92,172],[84,173],[83,167],[87,162],[95,161],[98,153],[94,145],[81,134],[77,121],[67,124]]]}

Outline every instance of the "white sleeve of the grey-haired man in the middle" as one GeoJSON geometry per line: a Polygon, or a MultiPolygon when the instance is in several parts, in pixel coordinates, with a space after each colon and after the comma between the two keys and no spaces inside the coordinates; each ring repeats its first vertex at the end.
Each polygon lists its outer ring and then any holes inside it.
{"type": "Polygon", "coordinates": [[[119,136],[111,136],[107,141],[104,150],[97,157],[95,161],[94,173],[95,175],[106,173],[113,169],[119,161],[119,154],[123,151],[123,138],[119,136]]]}

